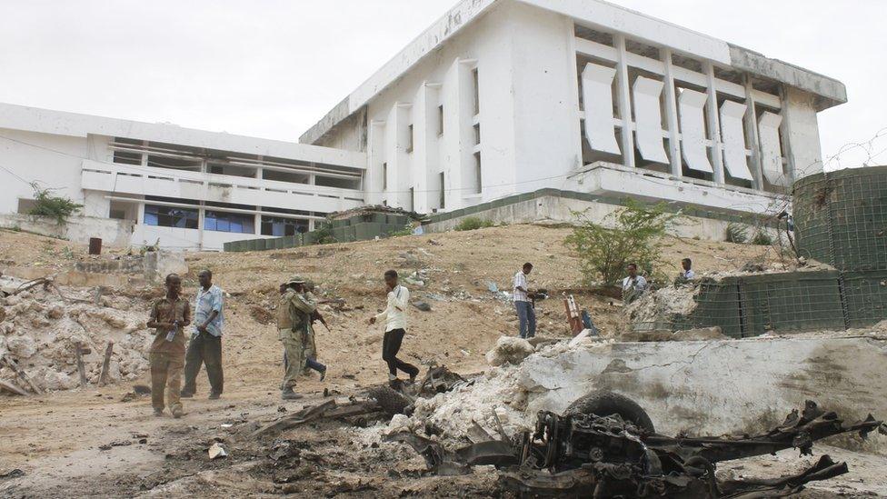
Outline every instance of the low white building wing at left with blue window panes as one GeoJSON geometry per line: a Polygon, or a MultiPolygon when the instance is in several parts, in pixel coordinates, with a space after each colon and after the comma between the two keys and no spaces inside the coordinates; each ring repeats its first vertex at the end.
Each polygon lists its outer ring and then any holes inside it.
{"type": "Polygon", "coordinates": [[[0,214],[27,213],[37,182],[83,204],[83,215],[130,221],[131,245],[221,249],[228,241],[294,235],[328,213],[363,205],[364,158],[4,104],[0,214]]]}

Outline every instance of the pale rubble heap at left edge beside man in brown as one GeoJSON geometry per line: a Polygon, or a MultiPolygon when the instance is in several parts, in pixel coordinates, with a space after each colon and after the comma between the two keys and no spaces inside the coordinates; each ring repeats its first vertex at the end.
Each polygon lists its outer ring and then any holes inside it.
{"type": "MultiPolygon", "coordinates": [[[[108,380],[134,380],[148,368],[145,353],[151,334],[145,327],[145,306],[123,296],[78,296],[65,288],[65,298],[34,288],[0,298],[0,356],[9,355],[44,390],[67,390],[80,384],[75,344],[83,356],[86,379],[99,381],[105,349],[114,342],[108,380]],[[96,303],[97,302],[97,303],[96,303]]],[[[15,380],[8,367],[0,379],[15,380]]]]}

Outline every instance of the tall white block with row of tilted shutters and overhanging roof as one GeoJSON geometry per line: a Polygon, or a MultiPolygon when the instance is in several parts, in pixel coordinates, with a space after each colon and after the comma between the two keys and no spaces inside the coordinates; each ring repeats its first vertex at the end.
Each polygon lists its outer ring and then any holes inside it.
{"type": "Polygon", "coordinates": [[[844,86],[599,0],[463,0],[301,137],[365,152],[370,203],[540,188],[765,212],[822,170],[844,86]]]}

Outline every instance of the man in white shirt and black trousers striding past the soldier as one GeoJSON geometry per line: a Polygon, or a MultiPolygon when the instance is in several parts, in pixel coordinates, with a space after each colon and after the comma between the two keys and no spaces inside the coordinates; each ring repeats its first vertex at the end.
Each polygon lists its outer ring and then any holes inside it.
{"type": "Polygon", "coordinates": [[[397,283],[396,271],[389,270],[385,272],[385,291],[388,293],[388,303],[382,314],[370,317],[370,324],[375,324],[376,321],[385,323],[382,358],[388,364],[388,379],[396,380],[397,370],[400,369],[409,374],[410,381],[414,382],[419,375],[419,368],[397,358],[406,334],[406,308],[410,305],[410,290],[397,283]]]}

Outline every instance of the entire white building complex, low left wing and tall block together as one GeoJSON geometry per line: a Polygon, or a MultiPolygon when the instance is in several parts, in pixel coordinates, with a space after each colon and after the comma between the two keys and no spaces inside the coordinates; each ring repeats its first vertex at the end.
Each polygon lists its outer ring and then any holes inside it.
{"type": "Polygon", "coordinates": [[[463,0],[284,143],[0,105],[0,214],[29,185],[218,249],[333,211],[449,212],[556,188],[762,214],[822,170],[832,78],[599,0],[463,0]]]}

